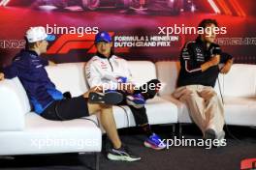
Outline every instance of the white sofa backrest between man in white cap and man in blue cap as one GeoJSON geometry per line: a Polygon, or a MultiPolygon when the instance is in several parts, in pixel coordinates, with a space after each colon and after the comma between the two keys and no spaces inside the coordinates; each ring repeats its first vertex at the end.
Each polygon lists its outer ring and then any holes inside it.
{"type": "Polygon", "coordinates": [[[46,69],[48,77],[59,91],[70,92],[73,97],[78,97],[88,90],[84,67],[85,63],[65,63],[46,69]]]}

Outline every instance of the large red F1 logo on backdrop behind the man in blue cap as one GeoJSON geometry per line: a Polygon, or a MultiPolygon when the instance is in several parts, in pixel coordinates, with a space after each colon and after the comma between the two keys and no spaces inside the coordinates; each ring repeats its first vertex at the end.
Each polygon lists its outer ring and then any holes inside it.
{"type": "MultiPolygon", "coordinates": [[[[113,32],[110,32],[113,36],[113,32]]],[[[79,37],[78,34],[64,34],[48,48],[48,54],[66,54],[72,49],[86,49],[87,53],[95,53],[95,34],[86,34],[79,37]]],[[[116,52],[128,52],[126,47],[118,48],[116,52]]]]}

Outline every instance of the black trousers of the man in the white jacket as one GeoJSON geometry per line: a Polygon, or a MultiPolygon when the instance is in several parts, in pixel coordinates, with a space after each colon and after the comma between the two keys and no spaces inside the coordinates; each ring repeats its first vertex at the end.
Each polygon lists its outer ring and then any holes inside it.
{"type": "MultiPolygon", "coordinates": [[[[157,86],[157,84],[160,83],[157,79],[152,79],[145,83],[143,86],[139,88],[139,90],[136,90],[134,94],[142,94],[144,96],[144,99],[152,99],[155,97],[157,90],[153,90],[149,87],[157,86]]],[[[118,91],[119,93],[123,94],[123,100],[118,105],[128,105],[126,102],[126,96],[130,95],[123,91],[118,91]]],[[[134,115],[135,123],[137,126],[142,126],[144,124],[148,124],[148,119],[146,115],[145,107],[142,108],[135,108],[132,105],[128,105],[134,115]]]]}

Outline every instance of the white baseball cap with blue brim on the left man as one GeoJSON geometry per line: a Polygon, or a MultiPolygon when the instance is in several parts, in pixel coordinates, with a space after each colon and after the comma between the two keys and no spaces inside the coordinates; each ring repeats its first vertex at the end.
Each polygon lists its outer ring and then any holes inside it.
{"type": "Polygon", "coordinates": [[[39,42],[44,40],[51,42],[55,40],[55,36],[48,35],[45,27],[43,26],[30,27],[27,30],[25,37],[27,38],[28,42],[39,42]]]}

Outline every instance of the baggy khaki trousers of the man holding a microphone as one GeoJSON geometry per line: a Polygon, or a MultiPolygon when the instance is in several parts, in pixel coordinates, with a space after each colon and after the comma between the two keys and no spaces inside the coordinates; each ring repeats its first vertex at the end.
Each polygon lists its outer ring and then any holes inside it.
{"type": "Polygon", "coordinates": [[[213,128],[217,134],[223,130],[223,104],[212,87],[183,86],[177,88],[173,96],[187,105],[191,118],[204,135],[208,128],[213,128]]]}

